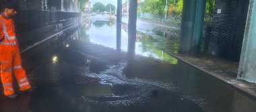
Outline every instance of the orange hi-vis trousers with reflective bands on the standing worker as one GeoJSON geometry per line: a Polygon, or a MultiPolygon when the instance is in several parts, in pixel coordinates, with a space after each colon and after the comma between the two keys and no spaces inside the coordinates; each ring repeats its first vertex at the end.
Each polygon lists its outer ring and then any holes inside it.
{"type": "Polygon", "coordinates": [[[25,70],[22,68],[22,60],[20,50],[16,46],[0,46],[0,62],[1,62],[1,81],[3,83],[3,91],[5,95],[12,95],[13,78],[12,71],[18,80],[20,91],[26,91],[31,88],[25,70]]]}

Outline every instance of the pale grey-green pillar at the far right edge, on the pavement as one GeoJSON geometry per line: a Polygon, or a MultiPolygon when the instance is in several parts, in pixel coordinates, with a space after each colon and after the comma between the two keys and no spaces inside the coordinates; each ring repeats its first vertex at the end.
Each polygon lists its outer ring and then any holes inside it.
{"type": "Polygon", "coordinates": [[[238,79],[256,83],[256,0],[250,0],[238,79]]]}

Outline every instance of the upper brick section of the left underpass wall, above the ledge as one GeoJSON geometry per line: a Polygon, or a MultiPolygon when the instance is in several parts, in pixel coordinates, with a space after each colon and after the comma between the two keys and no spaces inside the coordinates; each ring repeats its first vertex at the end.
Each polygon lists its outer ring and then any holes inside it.
{"type": "Polygon", "coordinates": [[[77,0],[16,0],[15,17],[18,34],[65,19],[79,17],[77,0]]]}

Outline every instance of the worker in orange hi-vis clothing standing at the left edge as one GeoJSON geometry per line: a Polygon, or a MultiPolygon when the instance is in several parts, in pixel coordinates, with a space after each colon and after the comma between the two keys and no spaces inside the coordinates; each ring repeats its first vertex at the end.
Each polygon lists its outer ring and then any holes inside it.
{"type": "Polygon", "coordinates": [[[18,41],[16,39],[13,17],[17,14],[15,5],[10,0],[1,0],[0,15],[0,62],[1,62],[1,82],[3,83],[4,94],[9,98],[16,98],[18,95],[13,90],[12,71],[18,80],[18,85],[22,93],[31,91],[30,83],[26,77],[26,72],[22,68],[22,60],[18,41]]]}

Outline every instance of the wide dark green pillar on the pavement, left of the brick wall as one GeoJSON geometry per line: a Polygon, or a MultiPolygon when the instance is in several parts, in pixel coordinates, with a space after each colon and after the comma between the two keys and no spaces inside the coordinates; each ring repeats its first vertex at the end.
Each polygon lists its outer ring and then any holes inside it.
{"type": "Polygon", "coordinates": [[[184,0],[179,53],[196,55],[200,50],[206,0],[184,0]]]}

